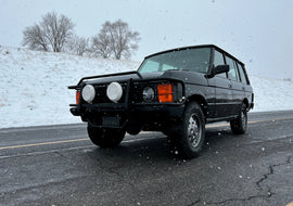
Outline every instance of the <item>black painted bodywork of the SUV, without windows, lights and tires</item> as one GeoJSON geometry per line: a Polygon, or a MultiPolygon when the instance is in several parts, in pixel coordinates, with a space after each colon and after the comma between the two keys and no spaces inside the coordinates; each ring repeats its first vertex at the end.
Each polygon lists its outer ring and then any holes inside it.
{"type": "MultiPolygon", "coordinates": [[[[166,70],[144,74],[130,72],[82,78],[77,86],[72,86],[69,89],[81,90],[86,85],[92,85],[95,88],[98,86],[106,88],[109,83],[116,81],[123,85],[124,96],[118,103],[113,103],[105,98],[103,102],[93,102],[91,104],[80,98],[79,104],[71,105],[72,114],[81,116],[84,121],[88,121],[93,127],[111,127],[109,123],[104,126],[102,119],[117,117],[120,119],[120,125],[118,126],[120,128],[125,127],[129,129],[137,127],[144,130],[164,130],[166,127],[169,127],[170,121],[181,120],[184,108],[191,101],[198,101],[200,103],[205,114],[206,123],[235,118],[243,103],[246,104],[247,111],[252,108],[254,104],[253,90],[247,75],[249,83],[232,81],[229,78],[213,75],[215,49],[222,52],[224,55],[233,59],[233,61],[238,62],[244,68],[244,64],[229,53],[216,46],[179,48],[166,52],[202,47],[211,48],[211,61],[207,74],[189,70],[166,70]],[[150,86],[157,92],[156,87],[160,83],[173,85],[175,90],[174,102],[143,102],[140,98],[142,95],[142,89],[150,86]]],[[[164,52],[157,54],[162,53],[164,52]]],[[[115,124],[115,127],[117,127],[117,123],[115,124]]]]}

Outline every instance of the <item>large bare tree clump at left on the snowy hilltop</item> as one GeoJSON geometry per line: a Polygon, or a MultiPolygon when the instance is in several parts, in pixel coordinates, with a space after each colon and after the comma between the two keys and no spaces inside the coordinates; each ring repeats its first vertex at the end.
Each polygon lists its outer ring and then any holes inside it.
{"type": "Polygon", "coordinates": [[[23,44],[30,49],[42,48],[43,51],[48,51],[51,46],[52,51],[61,52],[73,35],[73,28],[71,18],[64,15],[58,16],[55,12],[47,13],[40,24],[25,28],[23,44]]]}

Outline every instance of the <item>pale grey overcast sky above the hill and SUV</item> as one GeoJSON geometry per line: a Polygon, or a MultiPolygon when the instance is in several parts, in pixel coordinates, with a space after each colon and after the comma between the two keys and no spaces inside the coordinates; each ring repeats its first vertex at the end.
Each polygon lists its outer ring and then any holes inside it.
{"type": "Polygon", "coordinates": [[[0,0],[0,44],[20,47],[24,28],[51,11],[72,18],[84,37],[122,18],[140,33],[136,61],[213,43],[244,62],[250,74],[293,79],[292,0],[0,0]]]}

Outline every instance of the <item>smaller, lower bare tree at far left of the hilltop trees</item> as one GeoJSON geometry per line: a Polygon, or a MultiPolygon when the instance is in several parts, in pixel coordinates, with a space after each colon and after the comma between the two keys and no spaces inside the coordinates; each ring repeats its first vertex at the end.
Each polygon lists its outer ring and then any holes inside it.
{"type": "Polygon", "coordinates": [[[26,27],[23,35],[23,46],[28,46],[31,50],[48,51],[48,42],[39,25],[26,27]]]}

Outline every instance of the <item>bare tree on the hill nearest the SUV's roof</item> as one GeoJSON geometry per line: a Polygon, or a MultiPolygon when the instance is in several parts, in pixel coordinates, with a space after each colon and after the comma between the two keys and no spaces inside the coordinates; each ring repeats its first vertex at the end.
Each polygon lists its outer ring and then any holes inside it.
{"type": "Polygon", "coordinates": [[[99,35],[93,38],[93,46],[98,47],[99,53],[103,57],[109,57],[111,53],[117,60],[122,56],[128,59],[138,49],[140,40],[138,31],[131,31],[128,24],[118,20],[114,23],[105,22],[99,35]],[[111,51],[111,52],[110,52],[111,51]]]}

